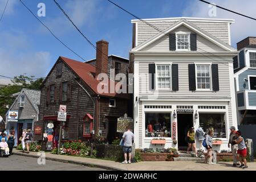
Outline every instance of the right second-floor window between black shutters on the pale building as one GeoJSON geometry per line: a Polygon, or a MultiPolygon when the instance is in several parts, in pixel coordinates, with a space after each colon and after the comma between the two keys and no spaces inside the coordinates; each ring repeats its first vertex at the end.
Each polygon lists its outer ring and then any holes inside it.
{"type": "Polygon", "coordinates": [[[210,65],[197,65],[197,89],[210,90],[210,65]]]}

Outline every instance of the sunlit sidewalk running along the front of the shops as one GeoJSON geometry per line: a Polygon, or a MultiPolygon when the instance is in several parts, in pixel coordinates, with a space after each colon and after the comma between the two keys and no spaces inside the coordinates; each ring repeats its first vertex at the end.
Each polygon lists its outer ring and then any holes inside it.
{"type": "MultiPolygon", "coordinates": [[[[37,152],[23,153],[16,149],[15,155],[30,156],[38,158],[37,152]]],[[[121,164],[110,160],[80,158],[76,156],[56,155],[46,152],[46,159],[64,163],[80,164],[90,167],[99,167],[109,170],[121,171],[256,171],[256,163],[248,163],[249,168],[241,169],[232,167],[231,162],[219,162],[216,165],[204,164],[202,162],[180,161],[180,162],[139,162],[132,164],[121,164]]],[[[47,164],[47,163],[46,163],[47,164]]]]}

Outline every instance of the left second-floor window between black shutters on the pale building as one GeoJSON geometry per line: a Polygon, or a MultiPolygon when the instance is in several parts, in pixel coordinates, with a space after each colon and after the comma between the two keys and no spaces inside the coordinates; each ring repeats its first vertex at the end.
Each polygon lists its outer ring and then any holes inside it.
{"type": "Polygon", "coordinates": [[[157,65],[158,89],[170,89],[170,65],[157,65]]]}

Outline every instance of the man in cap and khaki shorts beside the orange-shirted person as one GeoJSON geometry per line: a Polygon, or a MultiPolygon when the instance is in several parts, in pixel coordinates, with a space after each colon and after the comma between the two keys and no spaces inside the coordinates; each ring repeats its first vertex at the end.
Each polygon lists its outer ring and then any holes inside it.
{"type": "Polygon", "coordinates": [[[237,167],[240,164],[238,163],[238,159],[237,159],[237,150],[238,150],[238,146],[236,143],[233,142],[233,140],[237,139],[237,137],[235,136],[235,127],[231,126],[230,128],[230,134],[229,134],[229,143],[228,146],[230,148],[230,144],[231,144],[231,152],[233,154],[233,167],[237,167]]]}

